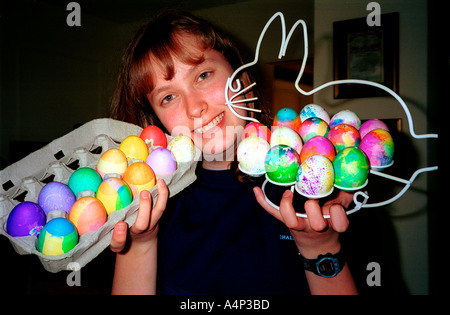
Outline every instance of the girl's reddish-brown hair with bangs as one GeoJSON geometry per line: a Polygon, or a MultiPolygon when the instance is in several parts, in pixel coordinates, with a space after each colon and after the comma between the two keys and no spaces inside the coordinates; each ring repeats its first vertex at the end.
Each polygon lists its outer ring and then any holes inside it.
{"type": "MultiPolygon", "coordinates": [[[[151,61],[157,60],[165,67],[168,79],[174,74],[173,56],[186,63],[199,62],[189,56],[177,40],[183,34],[195,35],[204,49],[222,53],[234,70],[243,64],[232,42],[212,24],[184,11],[166,10],[144,24],[128,45],[112,99],[112,118],[141,127],[156,125],[165,130],[146,97],[153,89],[151,61]]],[[[241,79],[244,85],[251,82],[247,73],[241,79]]],[[[251,93],[258,94],[258,91],[251,93]]],[[[261,99],[261,95],[256,96],[261,99]]],[[[261,101],[258,103],[260,108],[264,106],[261,101]]],[[[264,108],[261,116],[256,118],[266,125],[272,122],[268,108],[264,108]]]]}

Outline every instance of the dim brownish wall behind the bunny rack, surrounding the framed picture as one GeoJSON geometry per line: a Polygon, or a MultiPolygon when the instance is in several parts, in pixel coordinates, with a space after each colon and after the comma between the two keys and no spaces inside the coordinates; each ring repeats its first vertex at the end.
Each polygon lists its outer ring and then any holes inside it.
{"type": "MultiPolygon", "coordinates": [[[[315,87],[333,80],[333,22],[367,16],[369,11],[366,11],[366,6],[369,2],[315,1],[315,87]]],[[[383,0],[377,2],[381,6],[381,13],[400,12],[400,96],[409,106],[416,133],[427,133],[427,1],[383,0]]],[[[406,116],[394,99],[375,97],[334,100],[332,90],[327,88],[314,97],[316,104],[324,105],[332,114],[342,109],[350,109],[358,113],[361,119],[403,119],[403,133],[406,135],[405,141],[410,153],[405,154],[397,148],[396,158],[394,158],[398,167],[408,166],[403,170],[403,178],[409,179],[417,166],[429,166],[427,140],[413,140],[409,137],[406,116]],[[415,163],[411,163],[412,160],[415,160],[415,163]]],[[[395,188],[395,191],[400,188],[395,188]]],[[[393,191],[386,190],[381,193],[389,195],[393,191]]],[[[428,293],[427,201],[427,175],[423,174],[417,178],[403,198],[387,208],[398,238],[401,272],[412,294],[428,293]]],[[[376,233],[382,234],[383,231],[376,233]]],[[[395,242],[395,239],[391,241],[395,242]]],[[[383,267],[381,266],[382,275],[383,267]]]]}

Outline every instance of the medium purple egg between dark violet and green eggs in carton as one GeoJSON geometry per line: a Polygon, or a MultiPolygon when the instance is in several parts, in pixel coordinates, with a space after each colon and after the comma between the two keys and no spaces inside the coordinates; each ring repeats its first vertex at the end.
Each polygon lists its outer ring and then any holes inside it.
{"type": "Polygon", "coordinates": [[[60,182],[46,184],[38,196],[38,204],[44,210],[45,215],[53,210],[64,210],[69,213],[76,200],[77,198],[69,186],[60,182]]]}

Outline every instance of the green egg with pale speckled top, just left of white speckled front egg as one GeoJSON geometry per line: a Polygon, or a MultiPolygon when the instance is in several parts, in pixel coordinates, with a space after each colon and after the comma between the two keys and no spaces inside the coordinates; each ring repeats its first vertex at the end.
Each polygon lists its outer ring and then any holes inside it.
{"type": "Polygon", "coordinates": [[[293,148],[287,145],[276,145],[266,155],[266,178],[277,185],[295,184],[300,157],[293,148]]]}

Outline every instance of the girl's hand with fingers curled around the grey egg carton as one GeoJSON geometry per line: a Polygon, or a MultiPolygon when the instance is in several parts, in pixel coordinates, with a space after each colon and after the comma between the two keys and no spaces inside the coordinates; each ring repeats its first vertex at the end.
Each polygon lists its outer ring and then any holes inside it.
{"type": "MultiPolygon", "coordinates": [[[[136,222],[131,226],[128,234],[128,224],[124,221],[116,223],[111,239],[110,248],[113,252],[124,251],[128,242],[133,245],[145,245],[151,240],[156,240],[158,234],[158,222],[166,209],[169,191],[163,179],[159,179],[156,184],[158,198],[155,207],[152,207],[152,196],[149,191],[140,193],[139,210],[136,222]]],[[[128,249],[128,248],[127,248],[128,249]]]]}

